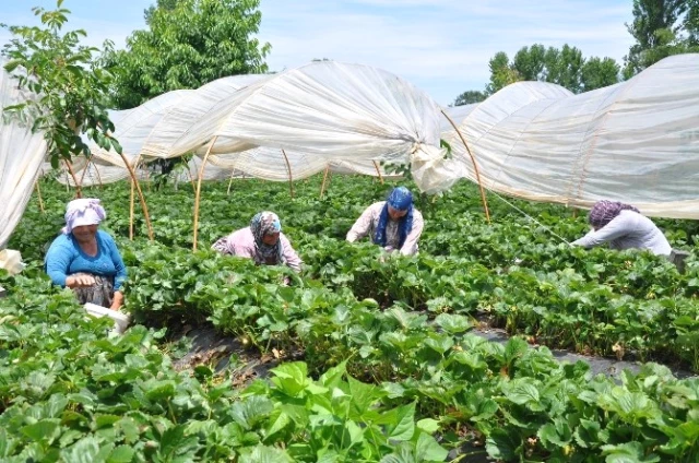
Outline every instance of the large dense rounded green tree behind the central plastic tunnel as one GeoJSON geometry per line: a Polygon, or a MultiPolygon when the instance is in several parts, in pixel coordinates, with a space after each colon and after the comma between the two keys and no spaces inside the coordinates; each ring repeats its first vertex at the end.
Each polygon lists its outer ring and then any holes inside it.
{"type": "Polygon", "coordinates": [[[145,11],[149,28],[111,54],[112,97],[131,108],[163,93],[198,88],[220,78],[266,72],[270,44],[259,31],[259,0],[158,0],[145,11]]]}

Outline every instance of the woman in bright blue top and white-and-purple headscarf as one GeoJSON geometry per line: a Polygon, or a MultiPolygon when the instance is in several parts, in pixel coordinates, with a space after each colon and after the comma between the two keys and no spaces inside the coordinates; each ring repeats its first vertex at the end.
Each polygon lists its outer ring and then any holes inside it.
{"type": "Polygon", "coordinates": [[[73,289],[80,304],[119,310],[127,269],[114,238],[98,229],[106,217],[97,199],[68,203],[66,226],[46,253],[45,268],[54,284],[73,289]]]}

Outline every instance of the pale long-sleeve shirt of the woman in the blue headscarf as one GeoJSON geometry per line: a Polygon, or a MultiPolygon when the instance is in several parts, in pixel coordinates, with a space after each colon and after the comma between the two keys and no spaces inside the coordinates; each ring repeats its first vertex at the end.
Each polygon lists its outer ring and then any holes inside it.
{"type": "MultiPolygon", "coordinates": [[[[354,242],[358,239],[369,235],[374,237],[376,229],[379,226],[379,219],[381,218],[381,211],[383,210],[386,201],[380,201],[368,206],[354,223],[350,232],[347,233],[347,241],[354,242]]],[[[411,233],[405,237],[403,247],[400,247],[401,237],[399,234],[399,222],[389,221],[386,225],[386,246],[393,249],[400,249],[402,254],[412,256],[417,252],[417,241],[423,233],[425,223],[423,221],[423,214],[415,207],[413,207],[413,228],[411,233]]]]}

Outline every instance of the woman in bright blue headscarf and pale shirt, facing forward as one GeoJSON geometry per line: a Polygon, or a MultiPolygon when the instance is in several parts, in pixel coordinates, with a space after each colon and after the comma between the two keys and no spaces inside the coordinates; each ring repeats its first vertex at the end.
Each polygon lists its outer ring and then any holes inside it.
{"type": "Polygon", "coordinates": [[[387,251],[400,250],[411,256],[417,252],[423,227],[423,214],[413,206],[413,194],[407,188],[398,187],[387,201],[374,203],[362,213],[347,233],[347,241],[369,235],[387,251]]]}

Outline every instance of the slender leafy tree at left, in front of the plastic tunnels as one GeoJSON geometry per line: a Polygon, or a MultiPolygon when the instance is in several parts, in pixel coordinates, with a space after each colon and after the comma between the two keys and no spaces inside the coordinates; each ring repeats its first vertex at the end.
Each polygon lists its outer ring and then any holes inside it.
{"type": "Polygon", "coordinates": [[[17,86],[29,92],[24,102],[4,108],[4,114],[25,121],[32,131],[40,131],[48,146],[54,167],[61,158],[90,155],[90,147],[81,133],[85,133],[105,150],[121,153],[121,146],[111,138],[114,124],[107,114],[109,73],[99,69],[99,49],[80,45],[84,31],[62,34],[69,10],[47,11],[34,8],[42,25],[7,26],[13,38],[4,45],[4,66],[17,81],[17,86]]]}

